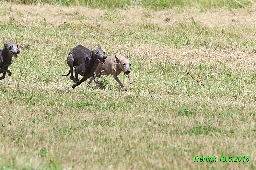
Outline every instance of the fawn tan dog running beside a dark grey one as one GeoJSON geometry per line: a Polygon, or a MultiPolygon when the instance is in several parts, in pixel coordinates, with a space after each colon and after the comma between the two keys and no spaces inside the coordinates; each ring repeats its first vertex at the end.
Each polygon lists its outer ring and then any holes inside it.
{"type": "MultiPolygon", "coordinates": [[[[112,56],[108,56],[106,59],[106,64],[102,65],[99,64],[98,68],[95,70],[95,73],[97,75],[97,77],[100,78],[100,75],[113,75],[113,78],[118,82],[118,84],[121,86],[121,88],[126,91],[127,89],[123,86],[123,84],[121,83],[121,81],[118,79],[117,75],[119,75],[122,71],[124,72],[125,77],[129,78],[129,83],[132,84],[133,80],[131,75],[129,75],[129,73],[131,72],[130,67],[131,67],[131,61],[130,58],[128,56],[126,56],[127,58],[115,54],[112,56]],[[104,71],[101,71],[104,70],[104,71]]],[[[91,83],[91,81],[93,80],[93,77],[89,80],[87,86],[89,86],[89,84],[91,83]]]]}

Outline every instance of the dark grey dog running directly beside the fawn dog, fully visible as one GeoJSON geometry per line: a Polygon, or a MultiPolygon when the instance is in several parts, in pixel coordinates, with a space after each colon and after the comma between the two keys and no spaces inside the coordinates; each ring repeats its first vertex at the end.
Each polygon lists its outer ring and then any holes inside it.
{"type": "Polygon", "coordinates": [[[92,50],[85,48],[84,46],[76,46],[71,49],[68,53],[67,64],[70,67],[68,74],[62,76],[70,75],[70,79],[75,82],[72,85],[74,89],[76,86],[79,86],[82,82],[86,81],[90,77],[94,77],[94,81],[98,84],[103,84],[103,81],[99,81],[97,79],[95,70],[98,67],[98,64],[105,64],[105,52],[101,49],[98,44],[98,49],[92,50]],[[75,77],[73,76],[73,67],[75,68],[75,77]],[[78,74],[83,76],[83,78],[79,81],[78,74]]]}

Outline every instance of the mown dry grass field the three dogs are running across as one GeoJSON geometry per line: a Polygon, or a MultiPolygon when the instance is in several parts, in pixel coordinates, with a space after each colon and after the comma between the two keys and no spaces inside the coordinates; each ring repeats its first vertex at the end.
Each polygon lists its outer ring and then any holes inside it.
{"type": "Polygon", "coordinates": [[[256,169],[255,9],[0,1],[0,40],[21,50],[0,81],[0,169],[256,169]],[[130,56],[128,91],[62,77],[70,49],[98,43],[130,56]]]}

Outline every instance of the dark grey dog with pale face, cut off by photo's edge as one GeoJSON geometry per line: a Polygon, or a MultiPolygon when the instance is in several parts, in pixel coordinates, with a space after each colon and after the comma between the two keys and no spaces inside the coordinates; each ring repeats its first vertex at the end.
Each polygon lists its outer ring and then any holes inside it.
{"type": "Polygon", "coordinates": [[[4,73],[2,77],[0,77],[0,80],[3,80],[5,78],[6,73],[8,73],[8,76],[11,76],[12,73],[10,70],[8,70],[8,67],[12,64],[12,56],[18,57],[18,54],[20,53],[20,50],[18,49],[18,45],[14,42],[9,42],[4,44],[4,49],[0,50],[0,74],[4,73]]]}

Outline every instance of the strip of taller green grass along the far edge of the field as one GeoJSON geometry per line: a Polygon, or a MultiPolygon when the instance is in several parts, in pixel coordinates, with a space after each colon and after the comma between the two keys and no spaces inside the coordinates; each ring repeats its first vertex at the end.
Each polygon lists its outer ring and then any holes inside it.
{"type": "MultiPolygon", "coordinates": [[[[1,0],[0,0],[1,1],[1,0]]],[[[5,0],[8,1],[8,0],[5,0]]],[[[201,10],[213,8],[250,8],[255,4],[254,0],[12,0],[20,4],[50,3],[58,5],[82,5],[92,8],[121,8],[133,9],[138,6],[153,10],[197,7],[201,10]]]]}

